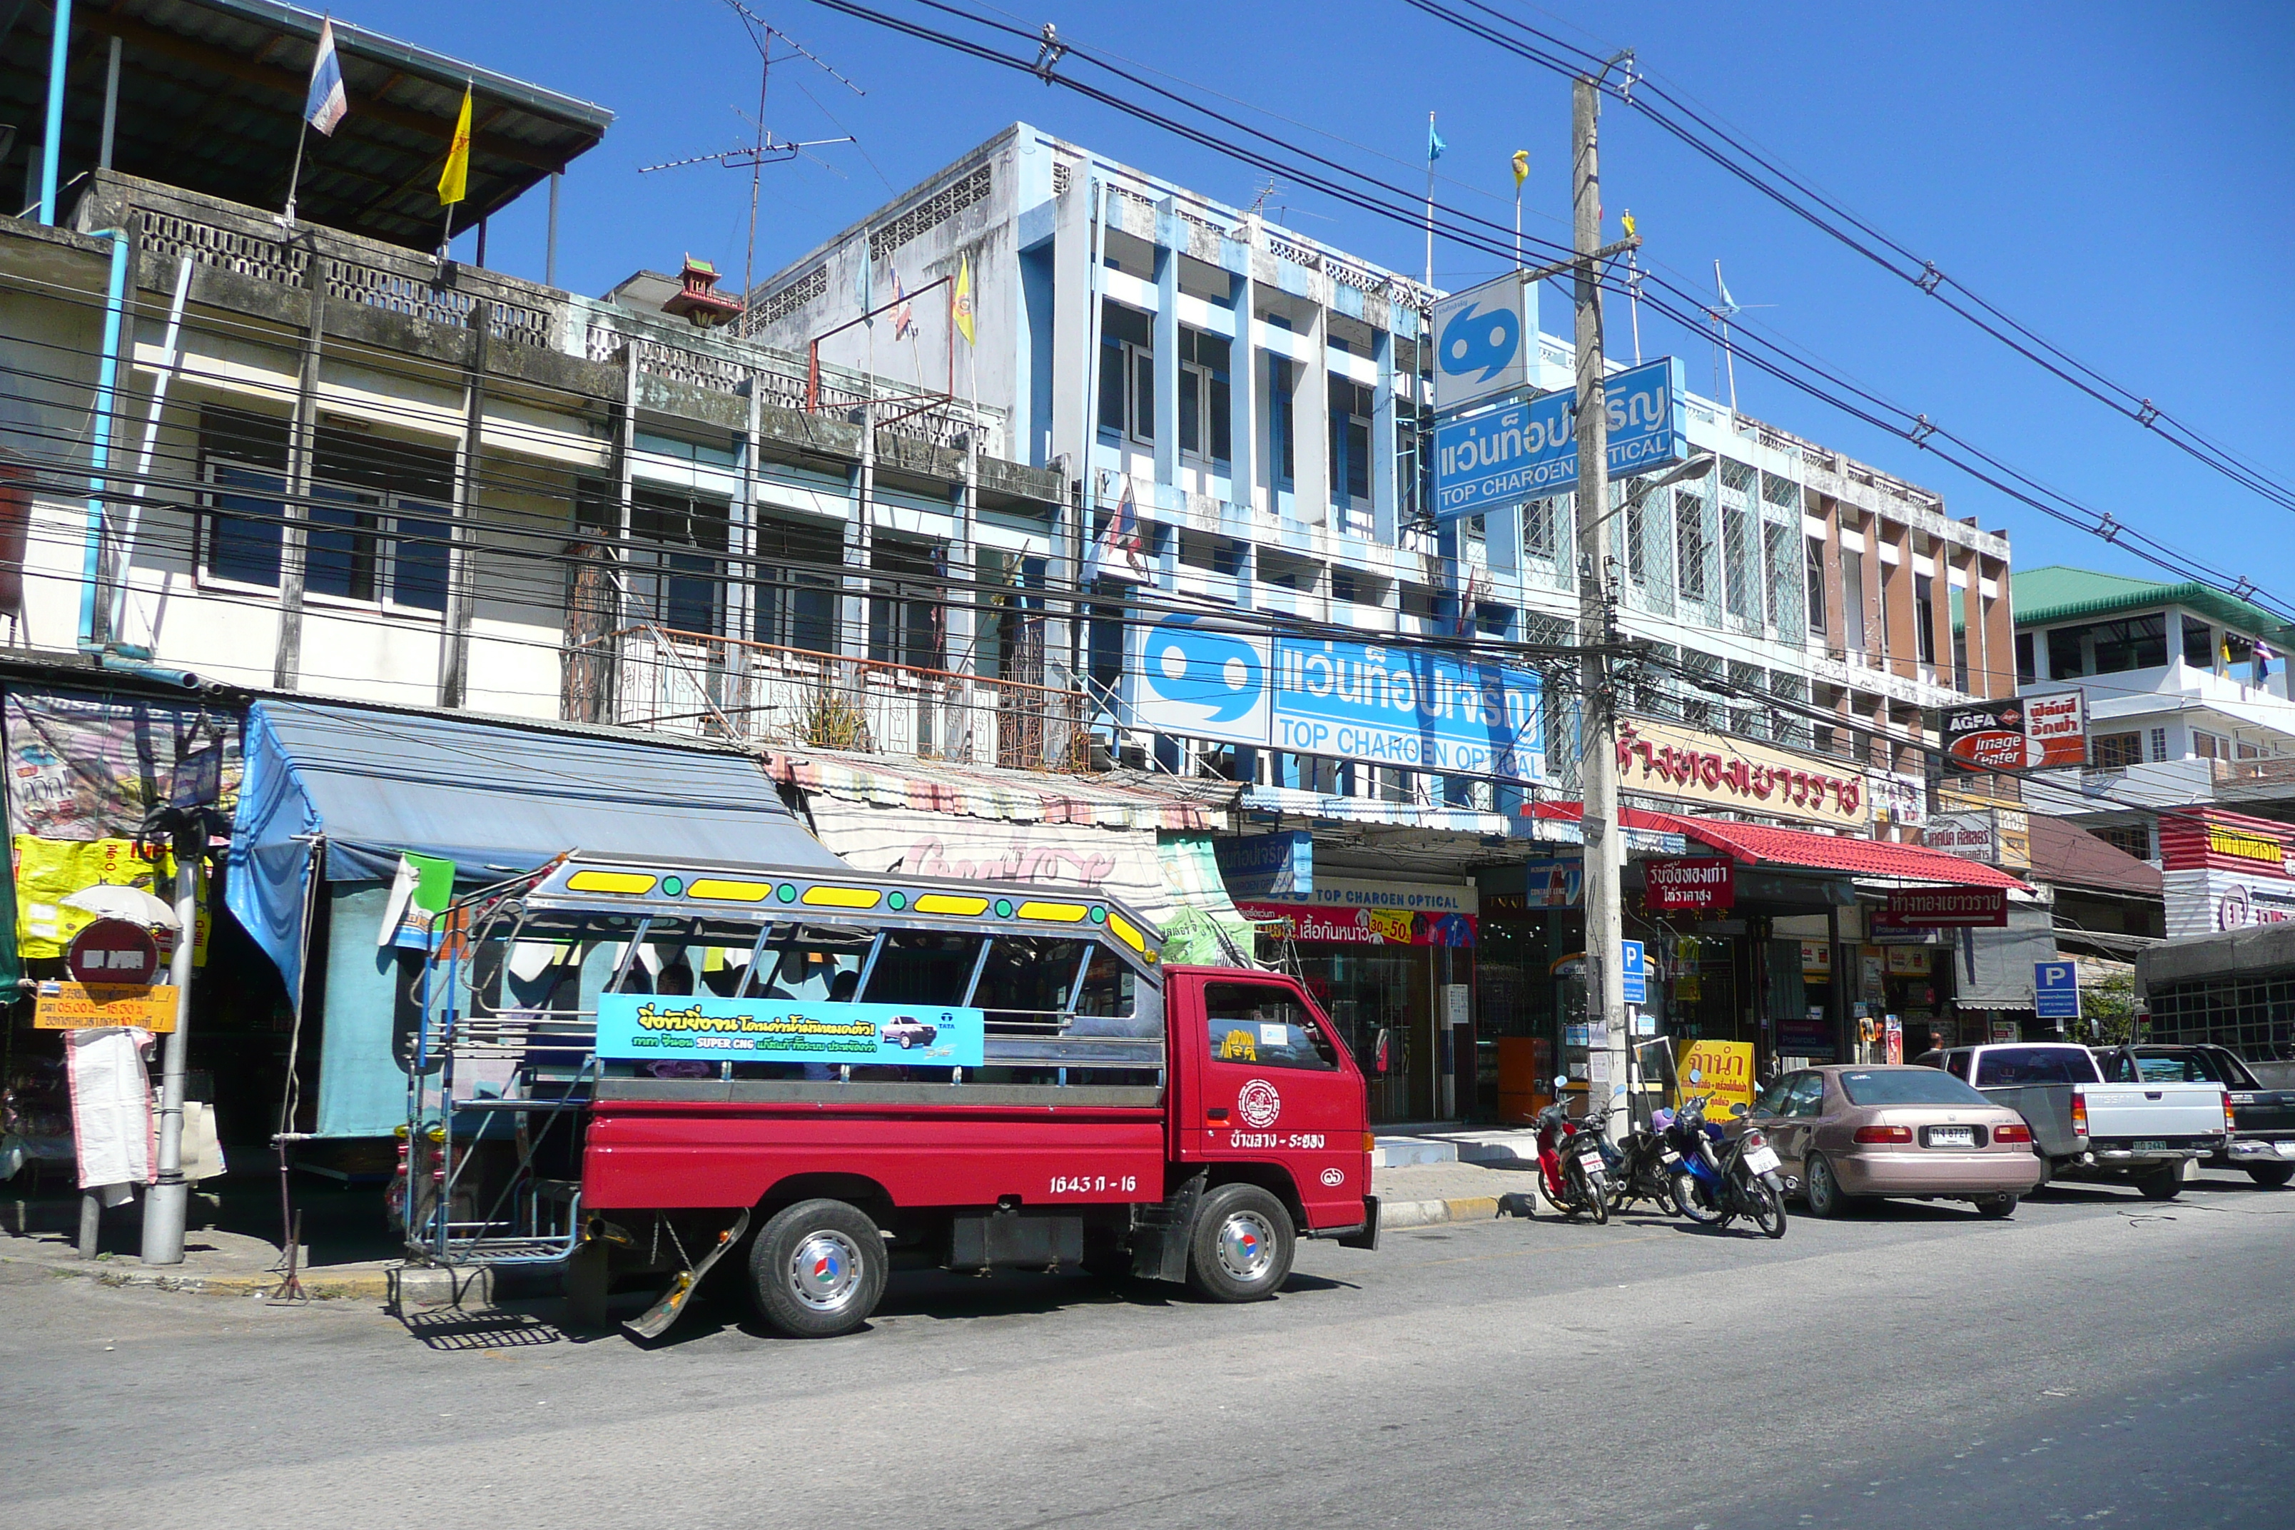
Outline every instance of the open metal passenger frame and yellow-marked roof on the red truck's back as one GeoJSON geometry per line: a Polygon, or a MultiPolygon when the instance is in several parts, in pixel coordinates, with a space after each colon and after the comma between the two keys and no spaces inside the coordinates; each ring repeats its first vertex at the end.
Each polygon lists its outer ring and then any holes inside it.
{"type": "Polygon", "coordinates": [[[1106,897],[569,853],[441,915],[404,1044],[409,1250],[441,1264],[574,1252],[597,1101],[1161,1106],[1159,961],[1154,927],[1106,897]],[[599,1012],[622,996],[725,1000],[755,1012],[753,1032],[776,1014],[847,1014],[838,1005],[980,1012],[980,1060],[936,1064],[929,1044],[916,1064],[907,1051],[601,1055],[599,1012]]]}

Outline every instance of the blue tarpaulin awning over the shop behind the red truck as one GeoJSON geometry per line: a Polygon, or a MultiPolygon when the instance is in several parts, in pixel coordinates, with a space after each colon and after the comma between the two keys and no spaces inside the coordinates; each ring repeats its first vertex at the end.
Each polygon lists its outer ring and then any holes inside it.
{"type": "Polygon", "coordinates": [[[748,755],[264,700],[248,707],[225,901],[287,993],[301,984],[314,835],[333,883],[390,881],[402,851],[443,856],[466,883],[569,849],[845,869],[748,755]]]}

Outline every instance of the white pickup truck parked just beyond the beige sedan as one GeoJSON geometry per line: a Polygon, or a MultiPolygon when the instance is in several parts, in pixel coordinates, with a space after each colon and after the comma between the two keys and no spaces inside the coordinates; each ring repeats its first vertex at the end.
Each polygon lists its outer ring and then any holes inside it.
{"type": "Polygon", "coordinates": [[[2015,1108],[2052,1179],[2127,1179],[2148,1200],[2171,1200],[2185,1161],[2224,1152],[2231,1133],[2224,1085],[2105,1083],[2086,1046],[1955,1046],[1919,1062],[2015,1108]]]}

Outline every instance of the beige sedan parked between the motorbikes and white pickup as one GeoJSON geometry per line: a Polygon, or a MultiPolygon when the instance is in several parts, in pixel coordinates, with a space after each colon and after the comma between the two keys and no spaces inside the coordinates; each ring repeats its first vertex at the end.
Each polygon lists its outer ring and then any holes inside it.
{"type": "Polygon", "coordinates": [[[1802,1069],[1765,1087],[1746,1124],[1769,1133],[1811,1216],[1882,1195],[1965,1200],[2008,1216],[2047,1177],[2024,1117],[1942,1069],[1802,1069]]]}

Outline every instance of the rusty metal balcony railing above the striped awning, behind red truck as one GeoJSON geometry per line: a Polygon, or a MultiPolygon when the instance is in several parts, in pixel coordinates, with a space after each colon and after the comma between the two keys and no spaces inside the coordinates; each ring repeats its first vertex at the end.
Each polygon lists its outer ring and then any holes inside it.
{"type": "Polygon", "coordinates": [[[567,711],[622,727],[946,759],[1012,771],[1090,768],[1090,707],[1058,690],[952,670],[631,626],[569,654],[567,711]],[[594,656],[608,654],[606,665],[594,656]],[[578,684],[576,684],[578,681],[578,684]]]}

